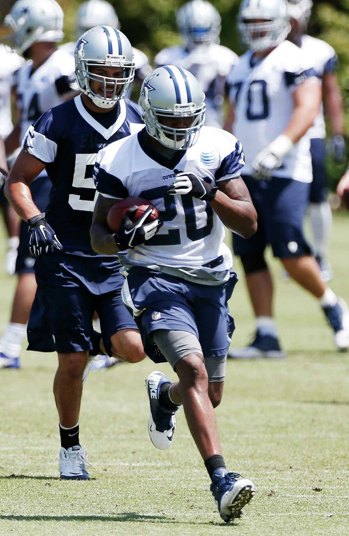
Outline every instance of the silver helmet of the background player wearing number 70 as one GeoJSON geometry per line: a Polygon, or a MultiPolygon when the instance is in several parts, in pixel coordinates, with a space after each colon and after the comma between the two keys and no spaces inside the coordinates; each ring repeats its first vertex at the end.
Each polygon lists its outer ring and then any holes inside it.
{"type": "Polygon", "coordinates": [[[243,0],[237,21],[243,43],[254,52],[277,47],[290,31],[286,0],[243,0]]]}

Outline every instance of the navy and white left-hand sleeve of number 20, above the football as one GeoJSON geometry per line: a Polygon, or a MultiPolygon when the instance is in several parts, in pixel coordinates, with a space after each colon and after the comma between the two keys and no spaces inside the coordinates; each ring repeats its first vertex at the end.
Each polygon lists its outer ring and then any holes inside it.
{"type": "Polygon", "coordinates": [[[120,180],[115,174],[118,158],[114,151],[110,151],[112,146],[113,144],[98,153],[93,169],[93,181],[96,190],[104,197],[125,199],[128,197],[128,190],[125,181],[120,180]]]}

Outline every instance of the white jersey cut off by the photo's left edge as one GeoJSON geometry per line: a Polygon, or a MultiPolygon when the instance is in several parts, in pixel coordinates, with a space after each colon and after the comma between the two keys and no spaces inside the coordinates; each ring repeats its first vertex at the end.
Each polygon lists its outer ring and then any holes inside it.
{"type": "Polygon", "coordinates": [[[14,73],[24,59],[4,44],[0,44],[0,136],[6,138],[12,132],[11,89],[16,84],[14,73]]]}

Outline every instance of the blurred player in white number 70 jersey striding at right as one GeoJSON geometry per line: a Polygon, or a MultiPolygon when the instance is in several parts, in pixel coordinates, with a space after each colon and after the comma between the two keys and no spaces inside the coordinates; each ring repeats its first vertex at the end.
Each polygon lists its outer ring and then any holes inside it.
{"type": "Polygon", "coordinates": [[[243,0],[238,27],[249,50],[229,76],[229,115],[235,115],[232,129],[244,146],[243,177],[258,212],[258,230],[245,241],[234,235],[234,251],[241,256],[257,319],[255,340],[230,356],[285,356],[273,318],[272,278],[264,259],[267,244],[290,277],[317,298],[338,349],[345,350],[347,306],[322,281],[303,234],[312,180],[307,131],[319,111],[321,84],[311,56],[285,41],[286,0],[243,0]]]}

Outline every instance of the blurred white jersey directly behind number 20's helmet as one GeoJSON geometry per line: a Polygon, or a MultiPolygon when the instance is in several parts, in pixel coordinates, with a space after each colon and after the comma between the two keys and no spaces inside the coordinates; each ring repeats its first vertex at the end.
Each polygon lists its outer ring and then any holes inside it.
{"type": "Polygon", "coordinates": [[[221,127],[226,78],[238,56],[217,43],[202,44],[187,50],[182,46],[164,48],[155,56],[157,67],[176,65],[190,71],[206,95],[206,125],[221,127]]]}

